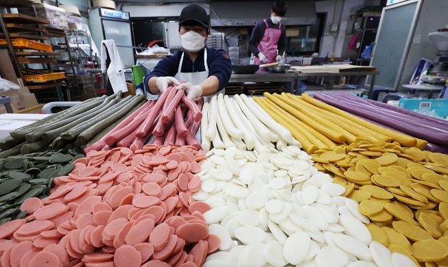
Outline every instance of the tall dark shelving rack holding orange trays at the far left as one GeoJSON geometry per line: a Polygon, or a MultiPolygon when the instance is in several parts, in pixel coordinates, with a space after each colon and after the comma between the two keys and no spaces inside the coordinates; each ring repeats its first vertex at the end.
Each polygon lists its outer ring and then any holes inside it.
{"type": "MultiPolygon", "coordinates": [[[[66,31],[51,27],[46,18],[39,18],[36,2],[1,0],[0,7],[8,12],[0,16],[0,44],[8,48],[17,77],[30,90],[38,90],[36,96],[39,95],[40,103],[55,99],[71,101],[65,71],[55,66],[62,55],[59,51],[53,51],[51,44],[51,37],[54,36],[64,38],[67,42],[66,31]],[[12,8],[17,8],[19,14],[12,8]],[[65,90],[64,94],[62,90],[65,90]]],[[[73,66],[73,62],[65,66],[73,66]]],[[[80,94],[79,87],[75,85],[75,88],[78,88],[80,94]]]]}

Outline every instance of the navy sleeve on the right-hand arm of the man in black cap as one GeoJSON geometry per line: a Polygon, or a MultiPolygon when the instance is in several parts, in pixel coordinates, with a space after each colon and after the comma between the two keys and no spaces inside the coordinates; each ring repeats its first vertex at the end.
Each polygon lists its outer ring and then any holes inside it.
{"type": "Polygon", "coordinates": [[[226,51],[219,49],[208,49],[207,64],[209,65],[209,77],[214,75],[220,80],[220,87],[217,89],[222,90],[227,86],[228,80],[232,75],[232,62],[228,57],[226,51]]]}

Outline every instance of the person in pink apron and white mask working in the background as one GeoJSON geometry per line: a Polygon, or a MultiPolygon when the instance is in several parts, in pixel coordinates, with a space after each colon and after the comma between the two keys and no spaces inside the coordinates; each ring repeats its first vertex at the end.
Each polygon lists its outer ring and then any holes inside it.
{"type": "Polygon", "coordinates": [[[255,25],[249,40],[249,51],[256,57],[254,64],[283,60],[283,53],[286,50],[286,28],[280,21],[285,16],[286,9],[285,1],[275,1],[272,4],[270,18],[255,25]]]}

